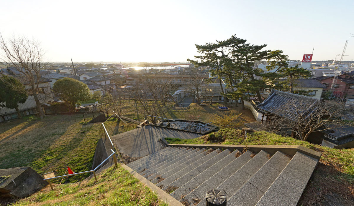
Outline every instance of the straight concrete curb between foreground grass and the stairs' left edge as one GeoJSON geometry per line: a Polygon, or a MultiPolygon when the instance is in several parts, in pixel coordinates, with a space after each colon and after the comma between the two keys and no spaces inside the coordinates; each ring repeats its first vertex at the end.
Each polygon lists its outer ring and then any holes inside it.
{"type": "Polygon", "coordinates": [[[164,190],[160,189],[158,186],[156,186],[155,184],[150,182],[148,179],[141,176],[136,171],[132,170],[129,166],[127,166],[125,164],[121,164],[121,165],[124,169],[128,170],[129,173],[131,173],[134,177],[139,179],[140,182],[142,182],[143,184],[148,186],[150,189],[152,189],[157,194],[157,196],[159,197],[160,200],[166,202],[170,206],[184,206],[181,202],[179,202],[175,198],[172,198],[172,196],[167,194],[164,190]]]}

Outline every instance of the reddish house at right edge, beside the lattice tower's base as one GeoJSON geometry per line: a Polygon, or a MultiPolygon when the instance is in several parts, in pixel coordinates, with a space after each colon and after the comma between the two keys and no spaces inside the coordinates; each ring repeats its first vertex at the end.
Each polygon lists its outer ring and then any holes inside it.
{"type": "MultiPolygon", "coordinates": [[[[316,77],[315,80],[326,86],[324,90],[330,90],[333,82],[333,76],[316,77]]],[[[333,89],[333,95],[345,99],[348,95],[354,95],[354,71],[343,73],[338,76],[338,80],[333,89]]]]}

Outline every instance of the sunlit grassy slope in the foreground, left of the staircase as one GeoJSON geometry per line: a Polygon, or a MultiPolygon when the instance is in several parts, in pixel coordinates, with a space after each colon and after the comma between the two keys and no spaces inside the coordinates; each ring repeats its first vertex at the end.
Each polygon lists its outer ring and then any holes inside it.
{"type": "MultiPolygon", "coordinates": [[[[158,196],[144,186],[120,165],[110,167],[89,181],[81,184],[49,186],[28,198],[13,202],[13,206],[69,206],[69,205],[146,205],[167,206],[158,196]]],[[[1,205],[1,204],[0,204],[1,205]]]]}

